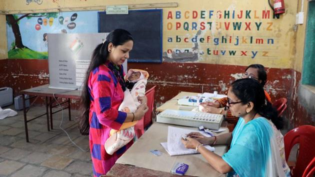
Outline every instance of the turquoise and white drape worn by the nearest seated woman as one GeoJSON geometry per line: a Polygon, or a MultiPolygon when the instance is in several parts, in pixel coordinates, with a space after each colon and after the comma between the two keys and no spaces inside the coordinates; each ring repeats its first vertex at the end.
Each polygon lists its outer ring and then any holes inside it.
{"type": "Polygon", "coordinates": [[[233,168],[227,176],[287,176],[270,123],[264,117],[247,123],[239,117],[232,132],[230,149],[222,156],[233,168]]]}

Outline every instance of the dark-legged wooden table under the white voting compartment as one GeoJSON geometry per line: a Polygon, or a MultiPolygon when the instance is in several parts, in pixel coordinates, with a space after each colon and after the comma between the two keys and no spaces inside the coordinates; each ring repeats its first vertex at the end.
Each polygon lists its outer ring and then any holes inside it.
{"type": "Polygon", "coordinates": [[[23,102],[23,114],[24,114],[24,126],[25,126],[25,137],[26,142],[29,142],[28,140],[28,129],[27,129],[27,122],[34,120],[40,116],[46,115],[47,118],[47,130],[49,131],[49,113],[50,113],[50,128],[52,129],[52,114],[56,113],[64,108],[68,108],[69,112],[69,120],[71,120],[71,113],[70,113],[70,99],[79,99],[80,98],[80,91],[79,90],[69,90],[69,89],[59,89],[59,88],[49,88],[48,84],[36,86],[29,89],[24,89],[21,91],[22,93],[22,102],[23,102]],[[25,98],[25,94],[29,95],[29,98],[25,98]],[[31,119],[27,120],[26,113],[31,107],[31,105],[34,104],[36,99],[38,97],[45,97],[45,113],[42,113],[36,117],[33,117],[31,119]],[[57,98],[66,98],[66,101],[60,102],[59,104],[62,105],[62,108],[56,111],[52,111],[53,107],[58,106],[58,104],[54,104],[55,99],[57,98]],[[30,103],[29,107],[25,107],[25,100],[27,99],[33,99],[33,101],[30,103]],[[65,106],[63,106],[65,105],[65,106]],[[48,111],[49,108],[49,111],[48,111]]]}

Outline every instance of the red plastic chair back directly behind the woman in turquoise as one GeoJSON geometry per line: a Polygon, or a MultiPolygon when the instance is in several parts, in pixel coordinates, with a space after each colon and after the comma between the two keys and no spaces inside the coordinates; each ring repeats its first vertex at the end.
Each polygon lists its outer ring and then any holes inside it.
{"type": "Polygon", "coordinates": [[[291,176],[302,176],[304,169],[315,156],[315,126],[301,125],[284,135],[285,160],[287,161],[291,148],[299,143],[298,155],[291,176]]]}

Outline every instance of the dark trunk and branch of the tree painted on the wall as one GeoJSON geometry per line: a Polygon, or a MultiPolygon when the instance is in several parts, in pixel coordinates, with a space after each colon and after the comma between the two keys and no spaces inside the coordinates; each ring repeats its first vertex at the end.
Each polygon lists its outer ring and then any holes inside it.
{"type": "Polygon", "coordinates": [[[58,15],[57,12],[51,12],[51,13],[26,13],[23,14],[22,16],[18,17],[15,14],[7,14],[6,15],[6,23],[12,28],[12,31],[14,33],[14,37],[15,37],[15,44],[13,46],[13,48],[28,48],[27,46],[23,45],[23,41],[21,38],[21,32],[19,30],[19,26],[18,26],[18,22],[20,19],[26,17],[27,19],[31,18],[31,17],[46,17],[46,18],[56,18],[58,15]]]}

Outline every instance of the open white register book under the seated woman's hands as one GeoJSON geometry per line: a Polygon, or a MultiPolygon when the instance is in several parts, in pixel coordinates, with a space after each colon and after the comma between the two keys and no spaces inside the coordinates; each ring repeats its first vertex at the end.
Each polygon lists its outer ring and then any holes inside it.
{"type": "MultiPolygon", "coordinates": [[[[185,148],[184,145],[181,143],[180,139],[183,134],[187,134],[190,132],[195,132],[197,130],[191,130],[191,129],[184,129],[184,128],[178,128],[173,126],[168,126],[168,133],[167,133],[167,142],[161,142],[160,144],[164,147],[164,149],[168,152],[169,155],[184,155],[184,154],[190,154],[190,153],[199,153],[195,149],[188,149],[185,148]]],[[[199,131],[204,136],[210,136],[204,131],[199,131]]],[[[204,145],[205,148],[207,148],[210,151],[214,151],[214,147],[211,147],[210,145],[204,145]]]]}

